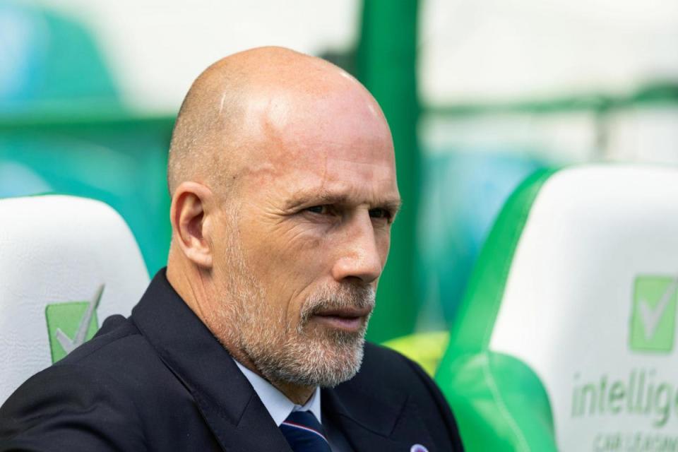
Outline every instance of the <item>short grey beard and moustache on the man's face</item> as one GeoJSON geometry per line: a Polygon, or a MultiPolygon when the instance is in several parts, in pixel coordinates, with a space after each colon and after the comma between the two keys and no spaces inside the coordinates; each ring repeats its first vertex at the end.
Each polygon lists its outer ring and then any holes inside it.
{"type": "Polygon", "coordinates": [[[369,285],[338,283],[318,287],[304,300],[299,323],[283,319],[268,303],[268,294],[247,268],[240,249],[235,219],[230,213],[228,270],[220,287],[222,307],[208,317],[210,330],[232,355],[244,355],[271,382],[333,387],[351,379],[360,369],[367,320],[356,333],[309,328],[314,314],[324,309],[374,308],[375,291],[369,285]]]}

